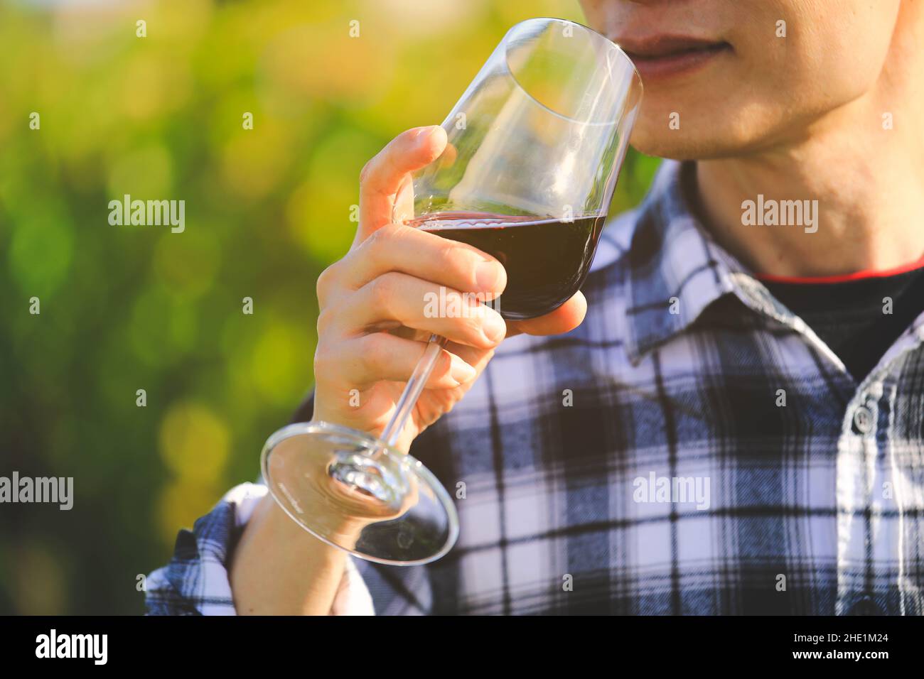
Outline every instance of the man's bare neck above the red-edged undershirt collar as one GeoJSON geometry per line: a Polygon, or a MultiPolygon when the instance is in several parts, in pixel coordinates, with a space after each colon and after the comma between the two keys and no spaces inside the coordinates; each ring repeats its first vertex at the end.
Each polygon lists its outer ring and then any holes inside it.
{"type": "Polygon", "coordinates": [[[780,276],[888,270],[924,257],[924,58],[909,56],[919,52],[896,33],[864,96],[760,152],[700,161],[699,196],[716,240],[753,272],[780,276]],[[755,210],[746,215],[748,200],[755,210]],[[793,200],[817,211],[784,225],[783,209],[768,225],[772,201],[793,200]]]}

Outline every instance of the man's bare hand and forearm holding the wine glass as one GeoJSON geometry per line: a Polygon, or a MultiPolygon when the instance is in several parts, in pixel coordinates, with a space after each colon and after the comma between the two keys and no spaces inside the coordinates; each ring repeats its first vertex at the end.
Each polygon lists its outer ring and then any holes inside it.
{"type": "MultiPolygon", "coordinates": [[[[468,391],[505,336],[566,333],[584,320],[577,293],[552,313],[505,323],[493,309],[461,318],[429,318],[425,295],[499,295],[506,285],[500,262],[464,243],[392,224],[409,214],[409,173],[439,157],[442,127],[407,130],[363,168],[359,229],[353,247],[318,279],[318,349],[314,357],[314,418],[382,432],[395,411],[431,333],[447,337],[412,421],[398,446],[448,412],[468,391]],[[359,406],[351,391],[359,390],[359,406]]],[[[460,302],[461,303],[461,302],[460,302]]],[[[357,530],[352,527],[352,530],[357,530]]],[[[345,528],[346,530],[346,528],[345,528]]],[[[330,611],[346,553],[312,538],[267,495],[245,528],[230,566],[238,612],[330,611]]]]}

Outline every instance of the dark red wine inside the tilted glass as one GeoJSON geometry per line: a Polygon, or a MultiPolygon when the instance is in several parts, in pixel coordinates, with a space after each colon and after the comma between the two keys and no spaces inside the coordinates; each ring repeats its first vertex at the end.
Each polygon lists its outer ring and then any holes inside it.
{"type": "Polygon", "coordinates": [[[505,319],[531,319],[562,306],[584,285],[606,215],[570,220],[485,212],[437,212],[408,225],[468,243],[500,261],[505,319]]]}

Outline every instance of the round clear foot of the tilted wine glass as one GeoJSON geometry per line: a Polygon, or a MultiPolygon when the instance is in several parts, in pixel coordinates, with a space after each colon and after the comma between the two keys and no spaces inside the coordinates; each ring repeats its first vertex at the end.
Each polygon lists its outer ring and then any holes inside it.
{"type": "Polygon", "coordinates": [[[380,564],[427,564],[456,543],[449,493],[410,455],[361,431],[299,422],[263,446],[276,503],[314,537],[380,564]]]}

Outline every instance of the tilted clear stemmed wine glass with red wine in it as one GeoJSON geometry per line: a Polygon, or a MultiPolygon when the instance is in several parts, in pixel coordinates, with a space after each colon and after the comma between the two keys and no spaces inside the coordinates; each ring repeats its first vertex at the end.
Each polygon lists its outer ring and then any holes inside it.
{"type": "MultiPolygon", "coordinates": [[[[504,294],[485,301],[505,318],[548,313],[587,276],[640,101],[638,72],[614,42],[563,19],[518,23],[444,120],[443,154],[413,174],[413,212],[395,208],[393,221],[501,261],[504,294]]],[[[452,548],[452,498],[395,448],[444,345],[431,337],[380,438],[321,421],[270,437],[263,479],[299,526],[383,564],[452,548]]]]}

